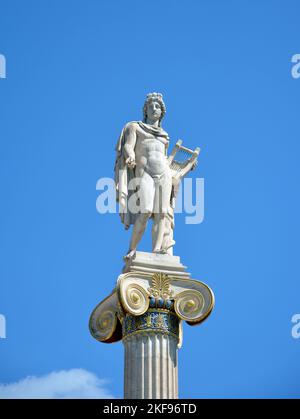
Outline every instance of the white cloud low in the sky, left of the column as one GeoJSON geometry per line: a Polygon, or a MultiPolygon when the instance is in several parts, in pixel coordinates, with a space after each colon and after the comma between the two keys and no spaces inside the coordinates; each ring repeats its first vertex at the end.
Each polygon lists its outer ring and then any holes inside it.
{"type": "Polygon", "coordinates": [[[54,371],[0,384],[0,399],[112,399],[106,380],[84,369],[54,371]]]}

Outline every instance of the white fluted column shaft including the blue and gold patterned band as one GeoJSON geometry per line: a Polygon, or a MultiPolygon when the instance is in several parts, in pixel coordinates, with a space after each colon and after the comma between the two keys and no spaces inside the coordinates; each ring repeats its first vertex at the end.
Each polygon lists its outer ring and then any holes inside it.
{"type": "Polygon", "coordinates": [[[124,398],[177,399],[179,321],[175,314],[151,310],[143,316],[127,315],[123,333],[124,398]]]}

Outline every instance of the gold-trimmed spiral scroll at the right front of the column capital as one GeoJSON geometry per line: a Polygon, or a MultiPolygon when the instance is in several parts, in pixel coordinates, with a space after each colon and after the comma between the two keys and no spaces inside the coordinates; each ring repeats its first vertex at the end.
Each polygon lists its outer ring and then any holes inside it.
{"type": "Polygon", "coordinates": [[[185,290],[175,297],[174,308],[182,320],[198,322],[203,315],[204,305],[205,301],[201,292],[185,290]]]}

